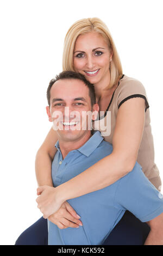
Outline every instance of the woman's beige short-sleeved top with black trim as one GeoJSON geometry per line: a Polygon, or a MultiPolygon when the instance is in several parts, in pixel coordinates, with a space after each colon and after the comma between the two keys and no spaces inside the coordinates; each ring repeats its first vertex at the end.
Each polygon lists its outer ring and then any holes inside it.
{"type": "Polygon", "coordinates": [[[114,94],[112,95],[111,101],[108,108],[106,109],[105,114],[102,117],[99,117],[99,120],[95,120],[93,122],[93,129],[101,131],[105,141],[108,141],[112,144],[112,137],[115,130],[118,108],[122,105],[123,102],[131,99],[132,97],[142,97],[146,102],[145,127],[143,130],[142,141],[137,156],[137,162],[141,165],[142,170],[147,178],[156,188],[158,188],[158,190],[160,190],[161,179],[159,176],[158,167],[154,163],[154,145],[150,125],[148,99],[146,96],[146,90],[142,83],[135,80],[134,78],[123,75],[118,83],[118,87],[115,89],[114,94]]]}

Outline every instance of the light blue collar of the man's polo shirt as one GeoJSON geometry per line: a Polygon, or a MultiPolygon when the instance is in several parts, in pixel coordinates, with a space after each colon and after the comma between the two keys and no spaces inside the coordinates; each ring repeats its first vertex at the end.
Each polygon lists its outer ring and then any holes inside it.
{"type": "MultiPolygon", "coordinates": [[[[100,131],[95,131],[91,138],[78,150],[80,153],[82,153],[85,156],[89,156],[97,147],[98,145],[103,141],[103,137],[101,135],[100,131]]],[[[59,147],[59,141],[55,144],[55,147],[60,151],[59,147]]]]}

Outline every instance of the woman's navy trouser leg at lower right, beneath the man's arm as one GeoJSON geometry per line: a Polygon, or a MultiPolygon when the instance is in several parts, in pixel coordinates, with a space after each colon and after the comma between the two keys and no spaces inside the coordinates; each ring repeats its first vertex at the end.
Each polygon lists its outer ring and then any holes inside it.
{"type": "Polygon", "coordinates": [[[149,231],[147,223],[126,211],[103,245],[143,245],[149,231]]]}

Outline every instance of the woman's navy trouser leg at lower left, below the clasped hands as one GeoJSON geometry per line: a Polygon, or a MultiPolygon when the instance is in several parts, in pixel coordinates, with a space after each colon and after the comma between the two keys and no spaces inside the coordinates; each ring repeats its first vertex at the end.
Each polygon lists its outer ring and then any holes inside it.
{"type": "Polygon", "coordinates": [[[48,245],[47,220],[41,217],[18,237],[15,245],[48,245]]]}

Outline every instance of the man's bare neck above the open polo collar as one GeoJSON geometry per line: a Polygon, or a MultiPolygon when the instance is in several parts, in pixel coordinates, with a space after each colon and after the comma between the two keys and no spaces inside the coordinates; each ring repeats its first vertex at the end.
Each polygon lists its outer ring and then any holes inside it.
{"type": "Polygon", "coordinates": [[[62,154],[62,158],[65,159],[67,154],[72,151],[79,149],[82,147],[91,137],[91,131],[87,132],[84,136],[77,139],[76,141],[62,141],[62,139],[59,139],[59,147],[62,154]]]}

